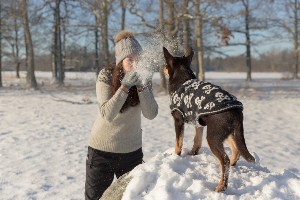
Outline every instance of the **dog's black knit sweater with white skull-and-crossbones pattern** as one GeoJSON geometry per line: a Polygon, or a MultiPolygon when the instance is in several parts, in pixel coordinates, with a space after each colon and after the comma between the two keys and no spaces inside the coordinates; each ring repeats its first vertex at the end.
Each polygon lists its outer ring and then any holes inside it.
{"type": "Polygon", "coordinates": [[[198,79],[190,79],[182,84],[172,92],[170,98],[171,113],[178,110],[186,123],[197,127],[205,125],[199,123],[199,117],[234,108],[244,109],[243,104],[232,94],[217,85],[198,79]]]}

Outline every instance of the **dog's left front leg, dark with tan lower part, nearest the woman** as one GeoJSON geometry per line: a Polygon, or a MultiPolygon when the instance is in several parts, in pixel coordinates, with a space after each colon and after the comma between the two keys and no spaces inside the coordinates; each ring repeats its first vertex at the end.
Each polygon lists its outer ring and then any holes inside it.
{"type": "Polygon", "coordinates": [[[175,123],[176,132],[176,142],[175,142],[175,152],[180,156],[182,150],[182,142],[184,136],[184,118],[179,111],[174,111],[172,113],[175,123]]]}

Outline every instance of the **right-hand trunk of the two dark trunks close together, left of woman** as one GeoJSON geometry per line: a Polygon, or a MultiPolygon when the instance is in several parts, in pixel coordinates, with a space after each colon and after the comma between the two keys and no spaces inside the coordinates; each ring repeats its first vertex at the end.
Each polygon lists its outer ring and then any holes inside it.
{"type": "Polygon", "coordinates": [[[63,65],[62,65],[62,55],[61,55],[61,27],[60,27],[60,0],[56,0],[56,8],[55,8],[55,16],[56,16],[56,24],[57,24],[57,45],[56,45],[56,56],[57,56],[57,61],[58,61],[58,74],[59,74],[59,79],[58,79],[58,86],[64,86],[64,71],[63,71],[63,65]]]}

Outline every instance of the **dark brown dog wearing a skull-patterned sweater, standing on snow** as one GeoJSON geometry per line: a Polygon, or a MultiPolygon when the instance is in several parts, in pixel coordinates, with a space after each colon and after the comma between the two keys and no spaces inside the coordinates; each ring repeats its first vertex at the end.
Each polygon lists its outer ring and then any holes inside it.
{"type": "Polygon", "coordinates": [[[207,143],[222,171],[215,191],[223,192],[227,189],[229,165],[235,166],[240,156],[255,163],[244,139],[243,105],[219,86],[196,79],[190,69],[192,47],[182,57],[173,57],[165,47],[163,50],[167,63],[164,73],[169,77],[170,108],[175,121],[175,152],[180,155],[182,151],[184,123],[195,126],[194,144],[189,155],[199,154],[203,127],[207,126],[207,143]],[[224,151],[224,141],[232,152],[230,160],[224,151]]]}

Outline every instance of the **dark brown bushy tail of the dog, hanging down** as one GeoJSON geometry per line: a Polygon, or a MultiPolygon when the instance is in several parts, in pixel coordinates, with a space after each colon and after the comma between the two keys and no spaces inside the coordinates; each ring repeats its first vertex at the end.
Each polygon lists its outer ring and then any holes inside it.
{"type": "Polygon", "coordinates": [[[240,115],[235,115],[234,119],[234,136],[236,147],[238,148],[241,156],[249,163],[255,164],[254,157],[249,153],[245,138],[244,138],[244,127],[243,127],[243,113],[240,111],[240,115]]]}

